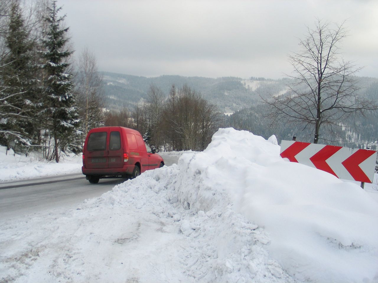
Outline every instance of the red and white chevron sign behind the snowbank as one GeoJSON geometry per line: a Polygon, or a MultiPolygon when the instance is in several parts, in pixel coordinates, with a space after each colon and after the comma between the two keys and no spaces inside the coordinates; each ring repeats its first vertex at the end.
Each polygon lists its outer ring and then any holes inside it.
{"type": "Polygon", "coordinates": [[[291,162],[318,168],[338,178],[373,182],[374,150],[283,140],[280,155],[291,162]]]}

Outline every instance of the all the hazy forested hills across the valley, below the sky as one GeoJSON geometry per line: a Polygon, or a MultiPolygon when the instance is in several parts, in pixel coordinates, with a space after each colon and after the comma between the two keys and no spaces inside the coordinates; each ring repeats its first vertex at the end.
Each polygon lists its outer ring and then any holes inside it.
{"type": "MultiPolygon", "coordinates": [[[[275,121],[269,117],[270,108],[263,103],[261,97],[269,95],[286,95],[290,78],[272,80],[261,77],[251,77],[248,80],[237,77],[204,78],[164,75],[154,78],[136,77],[131,75],[104,72],[104,92],[109,108],[121,106],[133,108],[147,99],[147,91],[153,84],[166,95],[172,84],[188,85],[200,92],[206,100],[218,106],[218,109],[228,114],[223,126],[235,129],[245,129],[265,138],[276,135],[277,139],[291,140],[293,136],[299,141],[312,140],[311,127],[287,123],[285,119],[275,121]]],[[[358,95],[370,100],[378,100],[378,79],[357,77],[361,89],[358,95]]],[[[321,143],[350,146],[356,148],[376,148],[378,139],[378,116],[375,112],[363,115],[353,115],[325,131],[321,143]]]]}

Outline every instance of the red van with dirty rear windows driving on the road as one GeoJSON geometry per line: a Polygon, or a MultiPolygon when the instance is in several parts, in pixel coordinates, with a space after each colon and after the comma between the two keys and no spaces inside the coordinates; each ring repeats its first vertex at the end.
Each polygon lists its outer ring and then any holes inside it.
{"type": "Polygon", "coordinates": [[[81,169],[92,184],[101,178],[135,178],[146,170],[164,166],[156,152],[133,129],[94,128],[85,138],[81,169]]]}

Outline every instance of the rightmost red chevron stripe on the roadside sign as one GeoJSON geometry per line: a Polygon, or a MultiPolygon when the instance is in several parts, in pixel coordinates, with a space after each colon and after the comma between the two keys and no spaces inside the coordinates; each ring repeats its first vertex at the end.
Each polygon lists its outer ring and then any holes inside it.
{"type": "Polygon", "coordinates": [[[358,149],[358,151],[342,161],[341,164],[344,165],[345,169],[347,169],[347,171],[356,181],[370,183],[371,181],[369,177],[366,176],[359,165],[367,158],[372,156],[375,152],[376,151],[373,150],[358,149]]]}

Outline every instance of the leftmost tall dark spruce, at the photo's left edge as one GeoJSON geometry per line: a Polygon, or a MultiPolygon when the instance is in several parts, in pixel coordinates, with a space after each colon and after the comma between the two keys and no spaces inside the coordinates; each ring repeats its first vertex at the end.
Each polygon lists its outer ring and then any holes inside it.
{"type": "Polygon", "coordinates": [[[8,148],[11,142],[29,147],[37,123],[34,117],[38,80],[33,63],[34,42],[17,2],[10,6],[4,42],[6,55],[0,63],[0,140],[8,148]]]}

